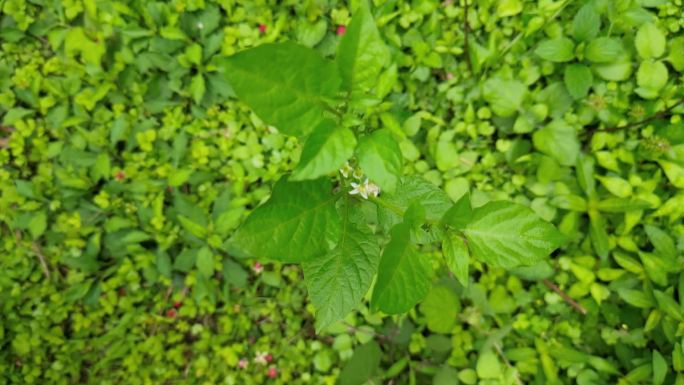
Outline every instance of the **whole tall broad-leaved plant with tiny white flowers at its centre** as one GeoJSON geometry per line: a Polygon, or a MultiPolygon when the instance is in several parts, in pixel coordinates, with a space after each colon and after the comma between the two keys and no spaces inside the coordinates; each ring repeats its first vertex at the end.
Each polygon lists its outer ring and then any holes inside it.
{"type": "Polygon", "coordinates": [[[358,306],[376,273],[373,310],[413,308],[430,291],[433,275],[421,250],[435,243],[467,285],[470,256],[511,269],[541,261],[563,242],[524,205],[495,201],[474,208],[467,194],[452,204],[430,182],[402,175],[396,134],[366,124],[368,107],[382,102],[377,79],[392,68],[391,56],[362,2],[335,61],[285,42],[219,64],[235,94],[266,124],[304,141],[294,171],[226,248],[301,263],[319,330],[358,306]]]}

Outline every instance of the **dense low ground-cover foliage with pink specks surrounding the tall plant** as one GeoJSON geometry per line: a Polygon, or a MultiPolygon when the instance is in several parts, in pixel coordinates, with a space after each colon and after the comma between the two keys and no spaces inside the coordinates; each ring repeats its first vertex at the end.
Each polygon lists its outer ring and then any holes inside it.
{"type": "Polygon", "coordinates": [[[319,333],[298,267],[225,243],[305,152],[219,69],[331,58],[356,2],[0,7],[0,384],[684,383],[681,0],[373,2],[403,173],[568,241],[467,285],[421,249],[419,306],[319,333]]]}

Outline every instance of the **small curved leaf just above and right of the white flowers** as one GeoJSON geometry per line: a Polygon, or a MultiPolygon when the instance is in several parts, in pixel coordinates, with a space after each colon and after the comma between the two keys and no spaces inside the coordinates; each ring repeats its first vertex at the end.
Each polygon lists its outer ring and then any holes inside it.
{"type": "Polygon", "coordinates": [[[394,193],[402,173],[399,144],[388,129],[381,129],[362,137],[356,148],[361,170],[381,191],[394,193]]]}

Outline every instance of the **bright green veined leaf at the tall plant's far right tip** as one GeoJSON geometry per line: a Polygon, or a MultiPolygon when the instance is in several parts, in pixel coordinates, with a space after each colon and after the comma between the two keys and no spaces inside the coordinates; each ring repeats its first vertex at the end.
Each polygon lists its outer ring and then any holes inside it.
{"type": "Polygon", "coordinates": [[[564,242],[563,235],[529,207],[506,201],[473,210],[463,233],[475,258],[503,268],[535,264],[564,242]]]}

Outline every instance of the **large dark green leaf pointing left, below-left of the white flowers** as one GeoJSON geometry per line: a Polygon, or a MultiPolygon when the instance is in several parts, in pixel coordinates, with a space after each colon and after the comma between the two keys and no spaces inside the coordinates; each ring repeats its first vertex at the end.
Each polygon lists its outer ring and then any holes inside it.
{"type": "Polygon", "coordinates": [[[229,243],[243,253],[284,262],[303,262],[328,252],[340,237],[329,178],[276,183],[271,198],[252,212],[229,243]]]}

